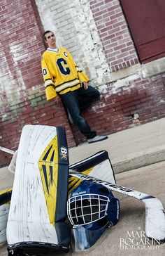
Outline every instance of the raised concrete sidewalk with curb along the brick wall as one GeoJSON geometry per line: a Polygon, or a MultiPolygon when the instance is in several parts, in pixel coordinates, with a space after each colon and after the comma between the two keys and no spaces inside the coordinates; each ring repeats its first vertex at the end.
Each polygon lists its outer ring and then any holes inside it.
{"type": "Polygon", "coordinates": [[[165,118],[117,132],[105,141],[69,149],[70,164],[108,151],[115,173],[165,160],[165,118]]]}

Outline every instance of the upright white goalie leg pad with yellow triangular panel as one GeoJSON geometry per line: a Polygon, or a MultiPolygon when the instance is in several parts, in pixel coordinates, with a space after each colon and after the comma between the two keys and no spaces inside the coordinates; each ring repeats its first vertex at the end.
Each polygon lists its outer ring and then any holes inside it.
{"type": "Polygon", "coordinates": [[[51,244],[54,248],[61,245],[59,223],[66,217],[69,163],[66,141],[59,141],[60,129],[42,125],[22,129],[7,224],[9,248],[28,242],[51,244]],[[59,200],[63,200],[63,206],[59,200]]]}

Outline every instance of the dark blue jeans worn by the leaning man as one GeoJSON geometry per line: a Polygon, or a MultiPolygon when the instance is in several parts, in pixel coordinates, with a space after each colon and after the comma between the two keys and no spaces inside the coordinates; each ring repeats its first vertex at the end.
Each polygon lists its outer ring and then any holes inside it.
{"type": "Polygon", "coordinates": [[[92,131],[87,121],[82,117],[81,111],[89,108],[94,101],[99,99],[100,93],[94,87],[88,87],[85,90],[83,87],[76,91],[69,91],[66,94],[60,94],[62,103],[73,119],[74,124],[87,139],[92,139],[96,136],[96,132],[92,131]]]}

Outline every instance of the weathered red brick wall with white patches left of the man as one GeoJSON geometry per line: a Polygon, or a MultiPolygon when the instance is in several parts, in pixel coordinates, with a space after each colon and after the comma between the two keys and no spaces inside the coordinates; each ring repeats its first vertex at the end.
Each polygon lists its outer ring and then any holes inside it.
{"type": "MultiPolygon", "coordinates": [[[[45,100],[41,53],[45,46],[34,4],[0,1],[0,146],[15,150],[24,124],[65,125],[69,146],[75,146],[62,104],[45,100]]],[[[0,152],[0,167],[10,155],[0,152]]]]}

